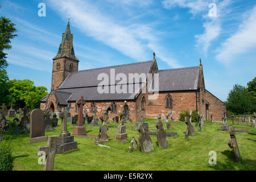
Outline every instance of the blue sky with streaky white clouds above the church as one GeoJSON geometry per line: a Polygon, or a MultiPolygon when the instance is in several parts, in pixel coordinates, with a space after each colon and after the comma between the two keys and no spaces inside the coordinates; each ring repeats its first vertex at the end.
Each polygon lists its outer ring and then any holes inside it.
{"type": "Polygon", "coordinates": [[[194,67],[205,87],[226,100],[234,84],[256,76],[255,0],[1,0],[0,15],[16,24],[7,51],[10,79],[51,88],[52,58],[70,16],[79,70],[152,60],[159,69],[194,67]],[[46,16],[38,16],[38,4],[46,16]],[[210,3],[216,16],[209,16],[210,3]]]}

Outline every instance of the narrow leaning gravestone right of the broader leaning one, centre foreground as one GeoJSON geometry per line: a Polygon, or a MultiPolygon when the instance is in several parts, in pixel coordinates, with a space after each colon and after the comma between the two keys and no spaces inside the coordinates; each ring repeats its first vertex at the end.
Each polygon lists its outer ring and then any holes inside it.
{"type": "Polygon", "coordinates": [[[158,139],[158,146],[162,149],[168,147],[168,141],[166,137],[166,132],[163,129],[163,123],[158,119],[155,123],[156,131],[156,138],[158,139]]]}

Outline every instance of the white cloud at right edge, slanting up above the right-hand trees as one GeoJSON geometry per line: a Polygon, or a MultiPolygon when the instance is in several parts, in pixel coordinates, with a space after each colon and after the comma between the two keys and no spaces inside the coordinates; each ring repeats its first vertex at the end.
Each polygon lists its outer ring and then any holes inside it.
{"type": "Polygon", "coordinates": [[[218,48],[216,59],[228,63],[236,55],[256,48],[256,6],[250,11],[249,17],[243,20],[238,31],[226,39],[218,48]]]}

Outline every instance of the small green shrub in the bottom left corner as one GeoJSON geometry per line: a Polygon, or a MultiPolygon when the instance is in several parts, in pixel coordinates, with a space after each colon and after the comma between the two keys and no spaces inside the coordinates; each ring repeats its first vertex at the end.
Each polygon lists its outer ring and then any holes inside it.
{"type": "Polygon", "coordinates": [[[5,142],[0,145],[0,171],[13,171],[13,156],[11,148],[5,142]]]}

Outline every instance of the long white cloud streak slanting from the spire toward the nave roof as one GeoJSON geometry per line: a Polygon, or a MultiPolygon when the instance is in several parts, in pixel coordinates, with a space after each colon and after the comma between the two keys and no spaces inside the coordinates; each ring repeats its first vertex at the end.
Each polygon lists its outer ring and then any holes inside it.
{"type": "MultiPolygon", "coordinates": [[[[109,18],[97,7],[84,1],[51,1],[49,3],[61,17],[71,16],[72,25],[86,35],[135,60],[148,60],[147,52],[151,49],[150,44],[158,47],[157,31],[150,26],[133,23],[129,27],[122,26],[121,22],[114,22],[113,18],[109,18]]],[[[162,53],[159,52],[158,55],[162,53]]],[[[167,55],[162,57],[166,59],[167,55]]],[[[168,62],[169,65],[177,65],[172,64],[171,58],[163,61],[168,62]]]]}

